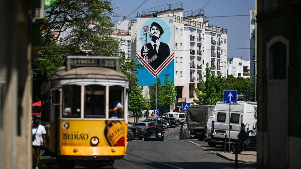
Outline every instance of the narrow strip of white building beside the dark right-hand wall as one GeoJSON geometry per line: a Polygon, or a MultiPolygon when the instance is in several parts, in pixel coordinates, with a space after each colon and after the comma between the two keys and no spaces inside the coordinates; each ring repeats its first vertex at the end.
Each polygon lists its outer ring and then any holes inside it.
{"type": "Polygon", "coordinates": [[[253,79],[253,76],[255,77],[255,62],[256,60],[256,11],[255,9],[250,9],[250,79],[253,79]]]}

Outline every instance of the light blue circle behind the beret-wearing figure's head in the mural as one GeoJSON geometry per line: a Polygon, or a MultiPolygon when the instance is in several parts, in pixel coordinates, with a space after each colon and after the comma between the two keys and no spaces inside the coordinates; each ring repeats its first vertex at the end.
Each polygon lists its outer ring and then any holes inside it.
{"type": "MultiPolygon", "coordinates": [[[[172,19],[170,19],[170,20],[172,20],[172,19]]],[[[165,21],[163,21],[162,19],[159,19],[159,18],[153,18],[153,19],[147,20],[142,25],[142,27],[140,29],[141,44],[144,45],[144,40],[145,40],[145,35],[143,35],[143,31],[144,31],[143,26],[149,26],[150,30],[151,30],[151,23],[153,23],[153,22],[157,22],[162,27],[162,29],[164,30],[164,33],[159,38],[159,41],[164,42],[166,44],[169,44],[169,41],[170,41],[170,28],[169,28],[168,24],[165,21]]],[[[150,32],[150,30],[148,32],[150,32]]],[[[151,37],[149,36],[149,34],[150,33],[147,33],[147,43],[151,42],[151,37]]]]}

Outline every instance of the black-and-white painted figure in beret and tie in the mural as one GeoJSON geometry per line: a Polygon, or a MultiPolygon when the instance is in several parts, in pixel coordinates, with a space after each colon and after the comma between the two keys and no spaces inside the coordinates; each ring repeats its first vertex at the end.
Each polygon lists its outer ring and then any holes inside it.
{"type": "Polygon", "coordinates": [[[149,65],[156,70],[169,56],[170,48],[168,44],[160,42],[160,37],[164,33],[162,27],[153,22],[150,27],[151,42],[142,46],[141,54],[149,65]]]}

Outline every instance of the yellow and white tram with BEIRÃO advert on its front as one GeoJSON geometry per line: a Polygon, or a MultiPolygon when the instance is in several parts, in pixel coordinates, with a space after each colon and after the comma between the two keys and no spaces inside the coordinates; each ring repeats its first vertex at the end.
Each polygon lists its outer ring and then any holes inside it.
{"type": "Polygon", "coordinates": [[[41,86],[47,148],[61,164],[114,162],[126,151],[129,81],[118,57],[90,52],[66,56],[41,86]]]}

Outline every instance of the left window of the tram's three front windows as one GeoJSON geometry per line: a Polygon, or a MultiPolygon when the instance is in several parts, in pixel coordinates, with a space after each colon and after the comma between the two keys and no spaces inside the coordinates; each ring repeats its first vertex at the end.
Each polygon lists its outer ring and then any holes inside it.
{"type": "Polygon", "coordinates": [[[63,117],[80,117],[80,86],[63,86],[63,117]]]}

